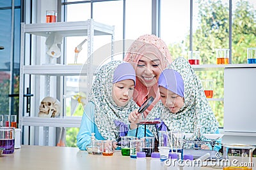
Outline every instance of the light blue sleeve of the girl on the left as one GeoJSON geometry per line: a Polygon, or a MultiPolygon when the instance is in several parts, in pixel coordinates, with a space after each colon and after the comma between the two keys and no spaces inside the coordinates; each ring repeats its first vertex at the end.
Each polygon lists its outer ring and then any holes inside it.
{"type": "Polygon", "coordinates": [[[92,133],[95,133],[95,139],[104,140],[94,123],[94,106],[93,103],[88,103],[84,109],[76,143],[80,150],[86,150],[86,146],[91,143],[92,133]]]}

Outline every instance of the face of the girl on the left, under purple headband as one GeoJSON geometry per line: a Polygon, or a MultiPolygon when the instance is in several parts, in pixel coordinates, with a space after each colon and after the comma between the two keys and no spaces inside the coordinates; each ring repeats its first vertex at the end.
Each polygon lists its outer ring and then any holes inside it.
{"type": "Polygon", "coordinates": [[[132,99],[134,81],[131,79],[113,83],[112,98],[118,106],[125,106],[132,99]]]}

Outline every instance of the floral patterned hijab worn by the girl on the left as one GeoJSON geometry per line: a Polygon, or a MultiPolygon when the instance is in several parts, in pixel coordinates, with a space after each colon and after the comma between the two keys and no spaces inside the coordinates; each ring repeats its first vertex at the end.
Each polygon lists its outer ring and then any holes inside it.
{"type": "MultiPolygon", "coordinates": [[[[96,71],[96,77],[93,81],[92,91],[88,97],[88,101],[95,104],[94,109],[94,121],[97,125],[100,134],[105,139],[114,140],[119,136],[119,128],[115,125],[115,120],[119,122],[124,122],[128,124],[128,115],[132,110],[138,108],[137,104],[134,103],[132,99],[130,99],[129,103],[125,106],[116,105],[115,101],[112,98],[112,88],[113,81],[114,83],[118,80],[116,76],[114,76],[114,71],[116,67],[120,66],[122,71],[117,71],[119,73],[119,81],[124,80],[125,76],[123,75],[130,74],[128,79],[131,79],[131,76],[134,77],[135,80],[135,72],[133,67],[130,65],[130,68],[121,66],[120,64],[124,64],[126,62],[122,61],[111,61],[108,64],[100,67],[96,71]],[[115,77],[115,80],[113,80],[115,77]]],[[[128,63],[126,63],[128,64],[128,63]]],[[[119,69],[120,69],[119,67],[119,69]]]]}

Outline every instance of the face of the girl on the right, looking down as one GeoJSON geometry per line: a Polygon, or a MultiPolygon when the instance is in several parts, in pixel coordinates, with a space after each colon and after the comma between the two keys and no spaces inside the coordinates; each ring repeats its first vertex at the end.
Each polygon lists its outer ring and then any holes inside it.
{"type": "Polygon", "coordinates": [[[184,97],[181,97],[161,86],[159,86],[159,92],[162,103],[172,113],[177,113],[184,105],[184,97]]]}

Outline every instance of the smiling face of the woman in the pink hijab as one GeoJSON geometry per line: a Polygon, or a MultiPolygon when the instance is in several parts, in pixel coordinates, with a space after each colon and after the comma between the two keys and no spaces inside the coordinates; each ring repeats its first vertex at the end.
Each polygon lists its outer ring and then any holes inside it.
{"type": "Polygon", "coordinates": [[[145,53],[138,61],[136,76],[146,87],[157,83],[161,74],[161,61],[153,53],[145,53]],[[147,56],[147,57],[146,57],[147,56]]]}

